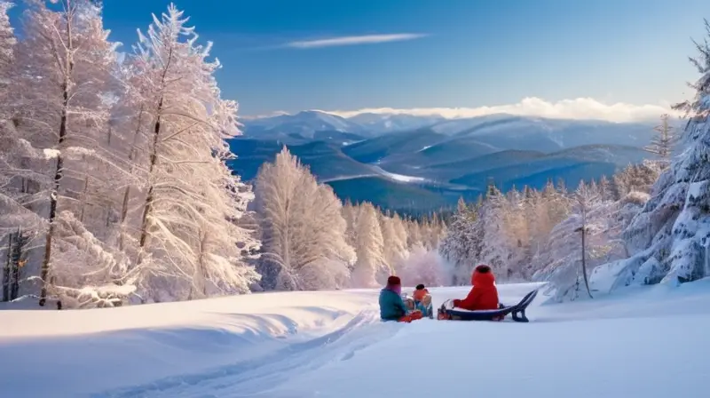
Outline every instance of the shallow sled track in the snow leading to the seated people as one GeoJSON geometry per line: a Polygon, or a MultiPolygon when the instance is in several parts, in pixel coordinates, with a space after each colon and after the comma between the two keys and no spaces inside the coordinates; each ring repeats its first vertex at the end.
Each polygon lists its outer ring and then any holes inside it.
{"type": "MultiPolygon", "coordinates": [[[[293,370],[317,370],[330,362],[347,361],[359,350],[391,334],[373,333],[379,314],[363,311],[342,328],[318,338],[292,343],[257,358],[204,372],[162,378],[138,386],[91,394],[94,398],[253,397],[288,381],[293,370]],[[363,326],[371,325],[366,328],[363,326]],[[209,391],[209,394],[205,392],[209,391]]],[[[380,325],[384,326],[382,323],[380,325]]],[[[189,358],[186,358],[189,361],[189,358]]]]}

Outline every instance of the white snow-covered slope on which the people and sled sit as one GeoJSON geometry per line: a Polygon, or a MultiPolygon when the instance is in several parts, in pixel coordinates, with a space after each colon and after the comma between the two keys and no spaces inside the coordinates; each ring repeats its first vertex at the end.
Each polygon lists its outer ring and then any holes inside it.
{"type": "MultiPolygon", "coordinates": [[[[501,285],[512,303],[537,285],[501,285]]],[[[431,289],[435,306],[468,288],[431,289]]],[[[530,323],[380,322],[376,290],[0,311],[0,395],[707,397],[710,279],[529,307],[530,323]]]]}

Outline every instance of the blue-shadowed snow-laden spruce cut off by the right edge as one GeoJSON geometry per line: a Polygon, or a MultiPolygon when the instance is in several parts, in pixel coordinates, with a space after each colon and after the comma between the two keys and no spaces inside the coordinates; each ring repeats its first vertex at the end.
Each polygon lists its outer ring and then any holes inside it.
{"type": "Polygon", "coordinates": [[[610,290],[628,284],[685,283],[710,275],[710,23],[705,27],[706,39],[696,43],[699,56],[691,60],[700,74],[690,84],[695,96],[675,106],[688,120],[684,149],[627,228],[631,257],[613,268],[610,290]]]}

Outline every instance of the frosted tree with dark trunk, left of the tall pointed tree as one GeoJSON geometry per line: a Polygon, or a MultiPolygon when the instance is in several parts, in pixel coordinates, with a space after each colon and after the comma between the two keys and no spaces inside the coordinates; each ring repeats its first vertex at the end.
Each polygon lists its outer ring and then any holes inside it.
{"type": "MultiPolygon", "coordinates": [[[[113,81],[115,44],[107,41],[98,6],[83,0],[59,3],[50,8],[40,0],[28,1],[8,88],[12,124],[26,143],[26,153],[32,152],[31,146],[45,157],[21,159],[36,171],[26,181],[36,191],[36,200],[25,207],[46,217],[41,305],[48,289],[56,287],[51,281],[76,288],[93,280],[66,267],[69,263],[59,247],[63,243],[54,242],[59,214],[85,214],[88,206],[96,206],[102,217],[85,219],[91,220],[87,233],[106,233],[110,206],[101,201],[110,202],[116,184],[130,179],[122,159],[102,145],[111,107],[106,93],[113,81]]],[[[95,271],[92,275],[101,274],[95,271]]]]}

